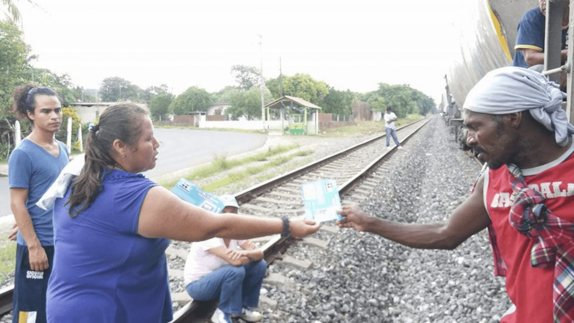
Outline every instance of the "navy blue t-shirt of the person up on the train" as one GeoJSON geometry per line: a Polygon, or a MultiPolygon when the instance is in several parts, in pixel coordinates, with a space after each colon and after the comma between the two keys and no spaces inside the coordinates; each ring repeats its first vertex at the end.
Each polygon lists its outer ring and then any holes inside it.
{"type": "MultiPolygon", "coordinates": [[[[518,23],[513,66],[528,67],[522,50],[519,49],[536,49],[544,52],[545,28],[546,17],[539,7],[526,11],[518,23]]],[[[562,49],[566,48],[567,33],[568,29],[562,30],[562,49]]]]}

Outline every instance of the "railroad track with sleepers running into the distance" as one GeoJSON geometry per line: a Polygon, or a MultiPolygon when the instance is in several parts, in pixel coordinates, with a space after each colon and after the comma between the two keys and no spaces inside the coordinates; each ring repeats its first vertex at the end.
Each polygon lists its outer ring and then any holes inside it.
{"type": "MultiPolygon", "coordinates": [[[[407,142],[428,121],[429,119],[422,119],[401,127],[397,130],[398,138],[401,142],[407,142]]],[[[331,178],[337,182],[343,204],[358,204],[366,199],[370,189],[374,188],[380,181],[381,173],[392,168],[398,158],[397,156],[401,153],[396,147],[386,150],[385,141],[385,135],[369,139],[292,172],[245,189],[235,194],[241,205],[240,212],[251,216],[269,216],[270,214],[277,217],[282,215],[302,216],[304,212],[301,201],[301,184],[323,178],[331,178]]],[[[338,228],[329,225],[321,227],[323,234],[333,234],[336,231],[338,228]]],[[[319,237],[323,234],[319,234],[319,237]]],[[[307,243],[326,247],[323,240],[314,237],[300,240],[294,238],[281,239],[279,235],[276,235],[254,240],[259,243],[264,251],[267,263],[273,263],[277,259],[281,262],[293,262],[292,257],[281,255],[293,243],[307,243]]],[[[180,258],[183,258],[184,255],[187,255],[187,251],[187,245],[184,244],[183,248],[179,250],[170,247],[166,252],[179,254],[180,258]]],[[[296,264],[296,266],[306,265],[305,262],[296,264]]],[[[174,275],[181,275],[181,270],[170,268],[170,272],[174,275]]],[[[10,312],[12,295],[13,286],[0,290],[0,315],[10,312]]],[[[209,317],[213,309],[213,302],[190,301],[177,310],[172,322],[205,322],[205,318],[209,317]]]]}

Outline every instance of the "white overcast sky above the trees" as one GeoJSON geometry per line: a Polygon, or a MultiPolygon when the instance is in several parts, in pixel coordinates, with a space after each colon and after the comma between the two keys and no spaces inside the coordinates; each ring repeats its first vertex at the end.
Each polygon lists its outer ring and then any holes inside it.
{"type": "Polygon", "coordinates": [[[281,66],[343,91],[409,84],[438,104],[456,51],[452,13],[465,1],[35,2],[17,2],[34,65],[84,88],[119,76],[141,88],[165,83],[176,95],[191,86],[216,92],[237,85],[232,65],[262,61],[265,79],[281,66]]]}

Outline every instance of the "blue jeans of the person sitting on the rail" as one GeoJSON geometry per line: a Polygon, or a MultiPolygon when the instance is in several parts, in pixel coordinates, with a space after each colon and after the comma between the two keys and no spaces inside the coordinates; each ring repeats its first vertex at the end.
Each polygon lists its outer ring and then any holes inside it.
{"type": "Polygon", "coordinates": [[[261,284],[265,277],[265,260],[244,266],[223,266],[185,287],[189,296],[197,301],[210,301],[219,297],[219,309],[226,314],[241,314],[243,308],[259,304],[261,284]]]}

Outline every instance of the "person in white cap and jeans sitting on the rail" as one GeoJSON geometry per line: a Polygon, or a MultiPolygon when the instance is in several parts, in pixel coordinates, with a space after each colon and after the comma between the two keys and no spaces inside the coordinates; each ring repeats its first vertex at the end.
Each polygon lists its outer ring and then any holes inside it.
{"type": "MultiPolygon", "coordinates": [[[[226,194],[219,199],[225,205],[222,213],[237,214],[235,197],[226,194]]],[[[262,316],[253,309],[259,303],[265,270],[263,251],[250,240],[211,238],[194,242],[185,261],[185,290],[197,301],[219,299],[211,317],[214,323],[231,323],[231,317],[257,322],[262,316]]]]}

